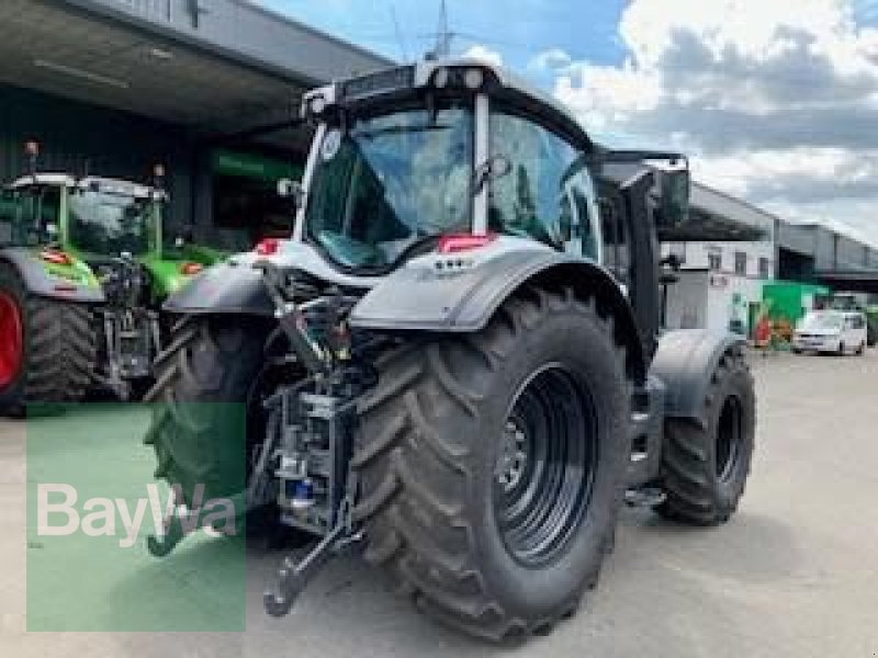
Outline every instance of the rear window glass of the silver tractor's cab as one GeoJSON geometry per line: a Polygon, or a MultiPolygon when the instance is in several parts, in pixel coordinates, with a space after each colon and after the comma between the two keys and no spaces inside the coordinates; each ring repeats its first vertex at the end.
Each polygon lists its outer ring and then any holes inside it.
{"type": "Polygon", "coordinates": [[[383,269],[425,237],[469,230],[469,107],[407,110],[330,129],[308,194],[305,231],[339,264],[383,269]]]}

